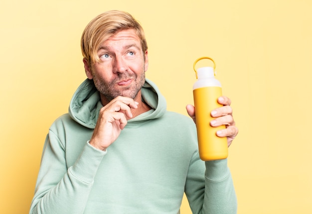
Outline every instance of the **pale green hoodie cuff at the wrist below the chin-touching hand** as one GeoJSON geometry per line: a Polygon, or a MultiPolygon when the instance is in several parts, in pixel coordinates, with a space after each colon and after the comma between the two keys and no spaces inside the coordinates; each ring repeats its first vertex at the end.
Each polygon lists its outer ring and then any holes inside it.
{"type": "Polygon", "coordinates": [[[75,164],[69,170],[78,179],[86,183],[93,183],[98,167],[106,153],[107,150],[96,149],[88,141],[75,164]]]}

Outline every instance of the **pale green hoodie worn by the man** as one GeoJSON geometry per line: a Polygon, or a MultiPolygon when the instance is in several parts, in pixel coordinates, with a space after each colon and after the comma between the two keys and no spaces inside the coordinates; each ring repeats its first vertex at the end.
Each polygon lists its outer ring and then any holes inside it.
{"type": "Polygon", "coordinates": [[[100,96],[92,80],[46,137],[29,214],[177,214],[185,192],[194,214],[235,214],[227,159],[199,159],[191,118],[166,110],[155,84],[142,99],[153,109],[128,120],[104,152],[92,147],[100,96]]]}

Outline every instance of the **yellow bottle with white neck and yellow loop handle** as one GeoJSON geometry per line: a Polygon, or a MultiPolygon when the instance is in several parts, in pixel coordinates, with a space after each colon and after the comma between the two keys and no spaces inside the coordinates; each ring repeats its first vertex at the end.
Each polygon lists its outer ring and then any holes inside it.
{"type": "Polygon", "coordinates": [[[228,156],[226,137],[218,137],[216,132],[224,129],[225,125],[212,127],[210,121],[214,119],[211,111],[221,107],[217,101],[222,96],[221,83],[215,79],[215,62],[209,57],[201,57],[194,62],[194,71],[197,81],[193,85],[193,97],[195,106],[195,119],[198,137],[198,149],[200,159],[203,161],[225,159],[228,156]],[[197,70],[195,65],[199,60],[209,59],[212,67],[201,67],[197,70]]]}

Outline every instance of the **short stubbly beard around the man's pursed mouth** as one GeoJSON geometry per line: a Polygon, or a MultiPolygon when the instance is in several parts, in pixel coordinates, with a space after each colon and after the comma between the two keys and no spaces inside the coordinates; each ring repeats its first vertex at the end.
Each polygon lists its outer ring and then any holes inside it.
{"type": "Polygon", "coordinates": [[[136,74],[129,74],[128,72],[118,73],[117,78],[112,82],[105,82],[93,75],[93,82],[97,90],[105,96],[108,102],[111,102],[118,96],[135,99],[145,83],[145,72],[139,76],[136,74]],[[118,82],[128,79],[133,79],[135,84],[120,87],[119,89],[116,88],[118,82]]]}

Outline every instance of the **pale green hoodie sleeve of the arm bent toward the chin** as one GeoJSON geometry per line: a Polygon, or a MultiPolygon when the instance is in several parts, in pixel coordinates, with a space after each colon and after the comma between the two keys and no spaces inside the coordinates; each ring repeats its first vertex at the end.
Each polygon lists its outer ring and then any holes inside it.
{"type": "Polygon", "coordinates": [[[105,154],[86,142],[74,165],[67,169],[64,145],[50,130],[29,214],[82,214],[105,154]]]}

